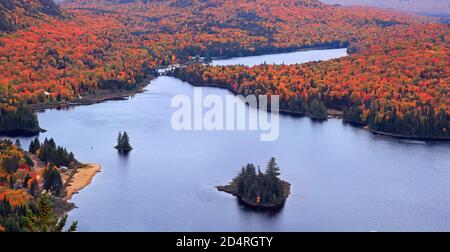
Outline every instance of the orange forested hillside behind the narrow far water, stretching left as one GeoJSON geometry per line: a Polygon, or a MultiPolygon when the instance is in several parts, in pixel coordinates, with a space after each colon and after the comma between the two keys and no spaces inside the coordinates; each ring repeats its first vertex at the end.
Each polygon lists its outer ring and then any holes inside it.
{"type": "Polygon", "coordinates": [[[133,88],[158,65],[191,57],[342,47],[369,28],[415,22],[318,1],[72,1],[64,20],[0,38],[0,84],[28,104],[133,88]],[[288,13],[288,15],[286,15],[288,13]]]}

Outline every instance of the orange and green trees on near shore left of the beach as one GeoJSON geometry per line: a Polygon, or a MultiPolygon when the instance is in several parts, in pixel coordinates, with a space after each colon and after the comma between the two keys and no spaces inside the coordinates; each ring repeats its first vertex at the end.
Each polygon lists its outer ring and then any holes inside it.
{"type": "MultiPolygon", "coordinates": [[[[50,141],[46,141],[49,146],[50,141]]],[[[36,144],[39,141],[33,141],[32,146],[36,144]]],[[[53,197],[62,196],[64,190],[56,166],[48,164],[40,173],[29,153],[9,140],[0,140],[0,232],[63,231],[67,216],[56,214],[53,197]],[[51,194],[42,193],[40,183],[51,194]]],[[[76,226],[72,223],[67,231],[75,231],[76,226]]]]}

